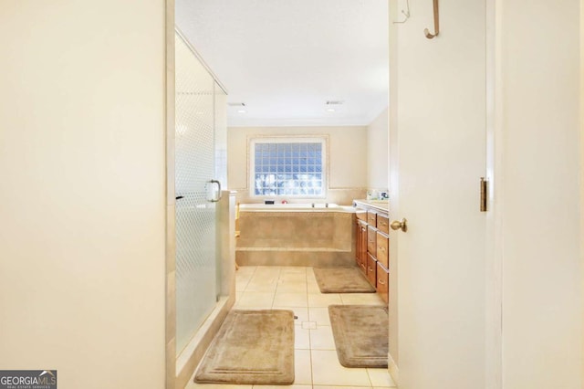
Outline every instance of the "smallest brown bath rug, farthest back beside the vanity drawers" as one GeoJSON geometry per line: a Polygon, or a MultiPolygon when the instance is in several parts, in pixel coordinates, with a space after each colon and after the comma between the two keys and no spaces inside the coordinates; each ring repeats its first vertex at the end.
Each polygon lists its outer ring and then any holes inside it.
{"type": "Polygon", "coordinates": [[[359,268],[314,268],[321,293],[374,293],[359,268]]]}

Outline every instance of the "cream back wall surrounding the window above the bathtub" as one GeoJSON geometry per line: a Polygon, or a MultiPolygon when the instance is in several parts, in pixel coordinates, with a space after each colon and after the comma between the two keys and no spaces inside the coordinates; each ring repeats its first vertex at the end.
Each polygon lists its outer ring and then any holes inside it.
{"type": "Polygon", "coordinates": [[[350,205],[354,198],[364,198],[367,127],[230,127],[227,130],[228,186],[238,192],[238,201],[250,201],[247,175],[249,139],[283,135],[328,136],[328,192],[327,198],[318,199],[319,202],[350,205]]]}

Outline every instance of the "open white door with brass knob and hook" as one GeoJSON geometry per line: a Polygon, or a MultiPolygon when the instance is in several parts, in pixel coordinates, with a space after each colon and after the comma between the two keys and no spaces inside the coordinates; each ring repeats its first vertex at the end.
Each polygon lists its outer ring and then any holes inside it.
{"type": "MultiPolygon", "coordinates": [[[[401,20],[393,5],[391,19],[401,20]]],[[[410,5],[407,22],[391,27],[391,218],[408,219],[408,231],[390,237],[391,356],[401,389],[481,388],[485,2],[441,2],[443,32],[433,39],[423,33],[434,31],[432,2],[410,5]]]]}

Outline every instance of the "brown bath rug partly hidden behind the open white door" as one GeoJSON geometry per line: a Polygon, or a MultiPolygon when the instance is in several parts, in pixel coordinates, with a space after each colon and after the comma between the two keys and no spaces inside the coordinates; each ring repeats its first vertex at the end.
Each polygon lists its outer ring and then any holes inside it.
{"type": "Polygon", "coordinates": [[[328,306],[339,363],[345,367],[387,367],[388,309],[373,305],[328,306]]]}

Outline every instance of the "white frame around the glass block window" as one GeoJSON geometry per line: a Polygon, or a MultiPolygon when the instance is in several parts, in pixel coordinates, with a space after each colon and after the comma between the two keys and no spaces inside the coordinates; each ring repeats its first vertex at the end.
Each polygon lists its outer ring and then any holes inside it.
{"type": "Polygon", "coordinates": [[[328,138],[324,136],[282,136],[282,137],[252,137],[248,142],[248,185],[250,197],[255,199],[322,199],[327,197],[328,189],[328,138]],[[321,193],[320,195],[255,195],[255,145],[266,143],[320,143],[321,145],[321,193]]]}

